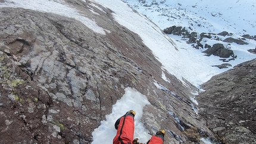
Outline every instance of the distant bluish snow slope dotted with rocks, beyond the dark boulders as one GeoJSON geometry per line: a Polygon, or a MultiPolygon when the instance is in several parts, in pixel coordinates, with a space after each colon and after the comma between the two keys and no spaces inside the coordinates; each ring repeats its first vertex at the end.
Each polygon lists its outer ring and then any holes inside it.
{"type": "Polygon", "coordinates": [[[161,29],[170,26],[191,27],[195,32],[256,35],[254,0],[123,0],[145,14],[161,29]]]}

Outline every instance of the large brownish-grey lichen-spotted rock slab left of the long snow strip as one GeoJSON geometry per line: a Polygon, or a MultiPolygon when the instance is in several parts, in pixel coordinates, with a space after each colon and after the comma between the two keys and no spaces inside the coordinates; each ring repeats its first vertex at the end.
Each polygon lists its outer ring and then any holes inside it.
{"type": "Polygon", "coordinates": [[[151,105],[142,121],[151,133],[164,127],[166,143],[218,141],[196,114],[191,92],[198,89],[162,70],[111,10],[78,0],[65,4],[95,20],[105,35],[61,15],[0,10],[0,143],[91,143],[126,87],[147,96],[151,105]]]}

